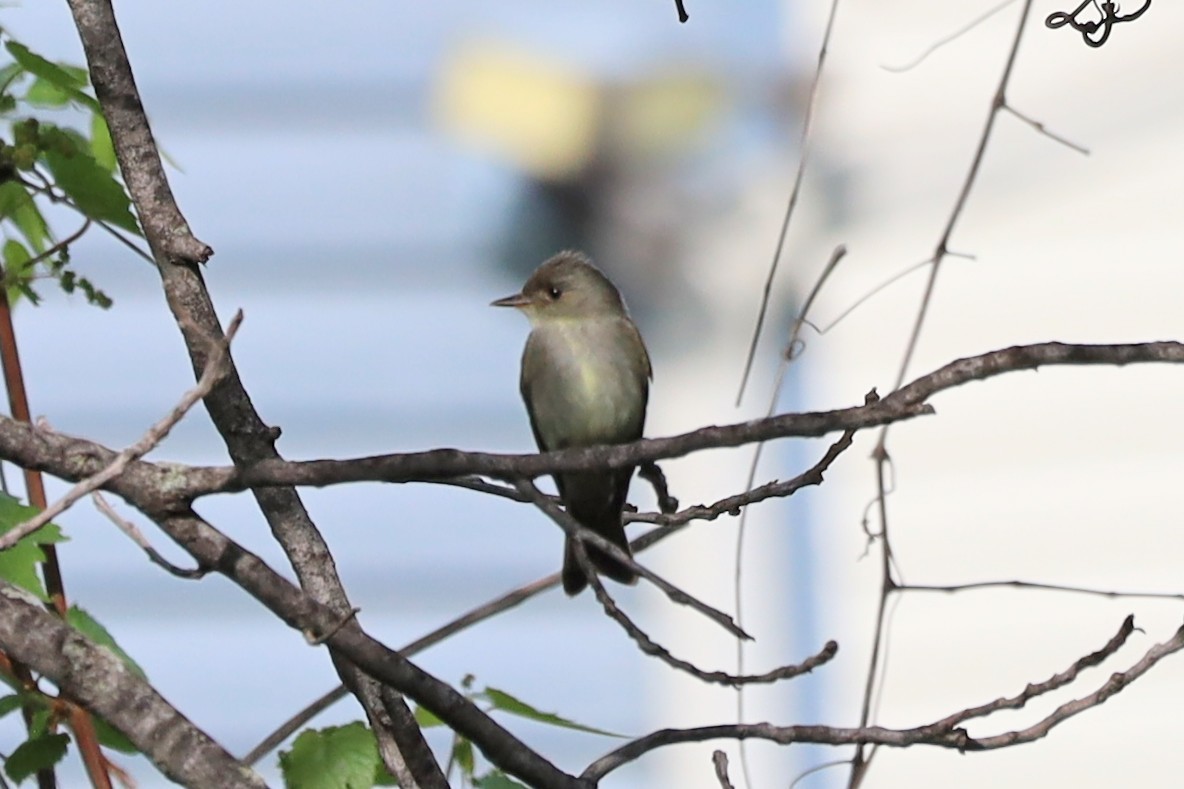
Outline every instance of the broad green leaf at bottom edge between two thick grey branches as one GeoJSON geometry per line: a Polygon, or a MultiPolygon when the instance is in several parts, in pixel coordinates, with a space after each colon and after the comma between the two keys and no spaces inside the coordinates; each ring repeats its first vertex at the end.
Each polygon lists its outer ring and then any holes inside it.
{"type": "Polygon", "coordinates": [[[279,752],[289,789],[369,789],[379,762],[374,735],[361,723],[305,730],[279,752]]]}

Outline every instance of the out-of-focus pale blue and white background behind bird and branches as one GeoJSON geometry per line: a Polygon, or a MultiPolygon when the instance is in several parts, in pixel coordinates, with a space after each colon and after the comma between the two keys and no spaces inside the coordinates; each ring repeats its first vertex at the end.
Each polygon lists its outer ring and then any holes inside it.
{"type": "MultiPolygon", "coordinates": [[[[290,458],[461,447],[532,451],[517,397],[526,321],[487,308],[543,258],[590,252],[618,282],[654,357],[648,435],[752,418],[799,296],[830,250],[848,258],[813,319],[830,323],[925,259],[982,130],[1019,4],[916,68],[932,44],[990,8],[934,1],[844,4],[836,23],[805,192],[793,219],[755,376],[734,406],[760,289],[799,150],[824,2],[605,0],[495,7],[378,0],[332,8],[259,0],[123,0],[117,12],[173,187],[217,256],[206,278],[225,319],[243,308],[240,372],[290,458]]],[[[1022,113],[1090,148],[1088,158],[1000,116],[945,263],[910,373],[1016,342],[1137,341],[1182,334],[1179,177],[1184,83],[1157,4],[1100,50],[1042,19],[1037,2],[1009,90],[1022,113]]],[[[4,26],[53,59],[83,63],[65,4],[4,11],[4,26]]],[[[63,218],[60,233],[73,229],[63,218]]],[[[32,410],[54,428],[122,447],[192,385],[152,268],[91,233],[77,268],[105,289],[101,312],[60,294],[18,310],[32,410]]],[[[781,410],[856,404],[895,380],[924,287],[914,272],[825,334],[806,332],[781,410]]],[[[910,374],[910,377],[912,377],[910,374]]],[[[1178,592],[1184,537],[1175,486],[1180,371],[1045,370],[963,387],[939,416],[893,430],[889,499],[905,580],[1022,578],[1178,592]]],[[[861,527],[874,494],[857,443],[826,483],[749,513],[741,618],[747,671],[798,662],[835,639],[810,676],[749,691],[748,720],[858,720],[879,567],[861,527]]],[[[758,481],[812,464],[826,442],[770,447],[758,481]]],[[[684,505],[742,489],[751,450],[664,463],[684,505]]],[[[156,460],[226,462],[200,411],[156,460]]],[[[12,479],[12,475],[9,475],[12,479]]],[[[51,488],[60,492],[64,486],[51,488]]],[[[360,618],[398,647],[558,569],[559,530],[528,507],[432,486],[304,490],[360,618]]],[[[652,508],[635,485],[631,500],[652,508]]],[[[244,496],[201,513],[289,572],[244,496]]],[[[230,583],[163,576],[89,505],[60,522],[71,599],[91,610],[156,687],[226,748],[245,753],[335,675],[322,650],[230,583]]],[[[149,530],[149,533],[150,530],[149,530]]],[[[645,554],[673,582],[735,610],[736,519],[703,524],[645,554]]],[[[155,535],[159,549],[179,552],[155,535]]],[[[290,575],[290,572],[289,572],[290,575]]],[[[721,630],[651,590],[626,610],[675,654],[734,669],[721,630]]],[[[1145,635],[1082,685],[971,727],[1028,725],[1093,691],[1179,624],[1178,602],[1060,594],[910,595],[893,608],[876,720],[929,723],[1018,693],[1105,643],[1137,614],[1145,635]]],[[[638,654],[591,596],[551,592],[425,652],[437,676],[504,689],[580,723],[636,736],[735,720],[732,691],[638,654]]],[[[960,756],[877,753],[866,785],[1163,785],[1180,768],[1169,659],[1037,745],[960,756]]],[[[352,720],[342,701],[315,725],[352,720]]],[[[616,740],[507,721],[562,768],[616,740]]],[[[19,742],[0,727],[2,749],[19,742]]],[[[714,787],[721,746],[667,749],[611,787],[714,787]]],[[[748,746],[753,787],[785,787],[843,749],[748,746]]],[[[262,766],[276,781],[275,758],[262,766]]],[[[69,781],[82,781],[75,768],[69,781]]],[[[133,762],[143,787],[162,785],[133,762]]],[[[802,787],[841,785],[843,768],[802,787]]]]}

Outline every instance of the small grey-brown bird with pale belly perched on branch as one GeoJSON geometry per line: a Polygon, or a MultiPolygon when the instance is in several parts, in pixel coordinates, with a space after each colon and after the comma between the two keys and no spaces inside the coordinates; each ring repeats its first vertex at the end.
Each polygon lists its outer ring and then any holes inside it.
{"type": "MultiPolygon", "coordinates": [[[[539,449],[619,444],[642,437],[652,377],[642,335],[620,293],[584,255],[560,252],[540,265],[522,293],[494,307],[516,307],[530,319],[520,390],[539,449]]],[[[567,512],[629,553],[622,509],[632,468],[555,474],[567,512]]],[[[633,583],[637,575],[585,544],[597,570],[633,583]]],[[[577,595],[587,578],[572,540],[564,547],[564,591],[577,595]]]]}

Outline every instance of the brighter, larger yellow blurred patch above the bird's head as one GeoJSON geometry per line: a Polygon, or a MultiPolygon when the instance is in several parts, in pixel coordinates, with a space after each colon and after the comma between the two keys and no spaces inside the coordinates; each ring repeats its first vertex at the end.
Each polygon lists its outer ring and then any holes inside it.
{"type": "Polygon", "coordinates": [[[601,110],[587,75],[490,41],[458,50],[436,96],[450,132],[548,180],[578,174],[596,155],[601,110]]]}

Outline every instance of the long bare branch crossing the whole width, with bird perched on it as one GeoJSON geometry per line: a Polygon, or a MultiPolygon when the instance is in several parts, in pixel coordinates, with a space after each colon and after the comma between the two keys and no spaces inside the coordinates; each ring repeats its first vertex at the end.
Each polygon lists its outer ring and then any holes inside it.
{"type": "MultiPolygon", "coordinates": [[[[123,496],[149,515],[174,512],[214,493],[291,485],[326,486],[342,482],[430,481],[455,483],[457,477],[483,474],[497,479],[536,477],[554,472],[623,467],[646,460],[680,457],[701,449],[738,447],[791,436],[821,436],[836,430],[860,430],[877,424],[933,413],[928,398],[972,380],[1053,365],[1114,365],[1184,363],[1184,344],[1173,341],[1117,345],[1042,342],[1014,346],[952,361],[918,378],[876,403],[835,411],[783,413],[725,426],[709,426],[668,438],[649,438],[613,447],[565,449],[540,455],[496,455],[436,449],[375,455],[353,460],[259,460],[246,468],[181,466],[133,461],[103,489],[123,496]]],[[[63,480],[78,481],[109,466],[116,454],[94,442],[40,430],[0,416],[0,458],[37,468],[63,480]]],[[[464,483],[471,486],[470,482],[464,483]]],[[[343,612],[348,607],[343,609],[343,612]]]]}

